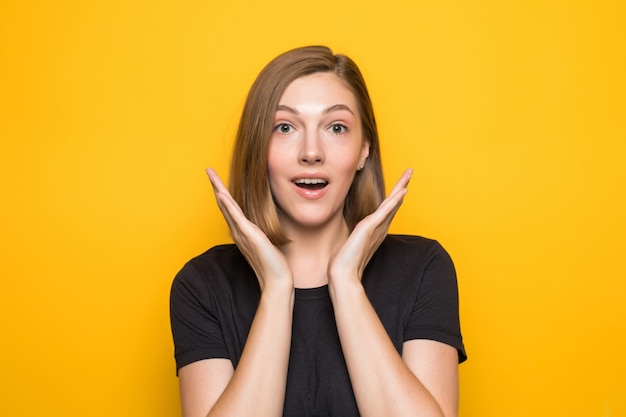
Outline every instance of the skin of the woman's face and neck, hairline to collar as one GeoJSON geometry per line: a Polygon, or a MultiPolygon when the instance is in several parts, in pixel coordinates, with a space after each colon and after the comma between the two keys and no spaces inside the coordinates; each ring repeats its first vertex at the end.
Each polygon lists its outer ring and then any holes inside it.
{"type": "Polygon", "coordinates": [[[329,73],[296,79],[281,97],[268,175],[281,227],[292,240],[281,250],[296,287],[327,284],[328,260],[348,237],[345,198],[369,155],[357,109],[352,92],[329,73]],[[303,196],[294,184],[298,178],[326,180],[323,197],[313,191],[303,196]]]}

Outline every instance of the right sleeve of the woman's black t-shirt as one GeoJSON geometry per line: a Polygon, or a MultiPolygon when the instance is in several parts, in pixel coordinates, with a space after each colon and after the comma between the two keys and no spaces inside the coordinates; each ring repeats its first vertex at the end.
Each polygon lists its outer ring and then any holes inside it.
{"type": "Polygon", "coordinates": [[[437,242],[423,272],[405,341],[429,339],[457,349],[459,363],[467,359],[459,320],[459,294],[452,259],[437,242]]]}

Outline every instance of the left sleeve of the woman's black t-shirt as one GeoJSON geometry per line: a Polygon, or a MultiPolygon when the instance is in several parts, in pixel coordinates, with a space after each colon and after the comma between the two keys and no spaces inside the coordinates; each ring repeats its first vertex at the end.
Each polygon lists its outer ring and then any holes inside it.
{"type": "Polygon", "coordinates": [[[228,358],[214,294],[193,263],[176,275],[170,292],[170,322],[176,371],[202,359],[228,358]]]}

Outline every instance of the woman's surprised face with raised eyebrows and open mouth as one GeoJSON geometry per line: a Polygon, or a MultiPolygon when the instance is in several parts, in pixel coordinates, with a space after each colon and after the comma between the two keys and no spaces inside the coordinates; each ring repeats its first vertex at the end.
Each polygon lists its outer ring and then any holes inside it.
{"type": "Polygon", "coordinates": [[[286,232],[344,222],[343,206],[369,142],[354,94],[332,73],[294,80],[280,99],[268,175],[286,232]]]}

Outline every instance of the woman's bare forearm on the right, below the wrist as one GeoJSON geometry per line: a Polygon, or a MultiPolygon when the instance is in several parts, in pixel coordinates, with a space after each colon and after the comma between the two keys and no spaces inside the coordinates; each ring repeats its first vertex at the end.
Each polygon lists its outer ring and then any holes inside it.
{"type": "Polygon", "coordinates": [[[396,351],[360,281],[331,282],[330,294],[361,415],[443,416],[396,351]]]}

